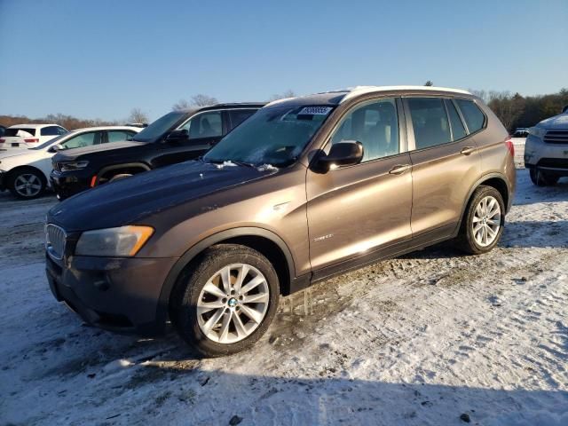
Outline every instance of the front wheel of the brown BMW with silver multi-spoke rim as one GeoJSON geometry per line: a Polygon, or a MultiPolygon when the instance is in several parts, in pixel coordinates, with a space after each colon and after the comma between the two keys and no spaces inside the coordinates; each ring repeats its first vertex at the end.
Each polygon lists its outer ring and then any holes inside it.
{"type": "Polygon", "coordinates": [[[177,332],[205,357],[244,351],[270,326],[280,283],[252,248],[220,244],[189,265],[172,295],[177,332]]]}

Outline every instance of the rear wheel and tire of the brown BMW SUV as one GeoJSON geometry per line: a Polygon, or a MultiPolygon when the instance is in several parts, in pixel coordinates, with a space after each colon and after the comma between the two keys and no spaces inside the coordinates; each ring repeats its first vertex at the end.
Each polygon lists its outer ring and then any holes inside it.
{"type": "Polygon", "coordinates": [[[493,186],[480,185],[471,195],[461,222],[457,245],[466,253],[491,251],[501,239],[505,225],[505,203],[493,186]]]}

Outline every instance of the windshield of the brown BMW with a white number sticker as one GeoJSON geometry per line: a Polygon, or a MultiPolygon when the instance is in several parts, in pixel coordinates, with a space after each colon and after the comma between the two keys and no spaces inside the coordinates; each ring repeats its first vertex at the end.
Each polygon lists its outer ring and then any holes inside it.
{"type": "Polygon", "coordinates": [[[203,161],[286,167],[296,162],[332,110],[332,106],[261,109],[211,148],[203,161]]]}

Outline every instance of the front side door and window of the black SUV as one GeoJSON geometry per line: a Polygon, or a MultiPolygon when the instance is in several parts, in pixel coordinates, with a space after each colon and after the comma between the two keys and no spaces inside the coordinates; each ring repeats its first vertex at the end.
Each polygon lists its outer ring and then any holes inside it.
{"type": "Polygon", "coordinates": [[[154,158],[154,167],[193,160],[205,154],[226,133],[224,115],[222,110],[203,111],[193,115],[177,128],[187,130],[189,138],[161,143],[159,153],[154,158]]]}

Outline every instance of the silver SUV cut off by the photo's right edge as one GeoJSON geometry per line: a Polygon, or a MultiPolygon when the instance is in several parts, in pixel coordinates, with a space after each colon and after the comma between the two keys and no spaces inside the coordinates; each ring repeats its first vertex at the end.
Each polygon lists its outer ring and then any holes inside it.
{"type": "Polygon", "coordinates": [[[568,176],[568,112],[539,122],[525,142],[525,168],[534,185],[556,185],[568,176]]]}

